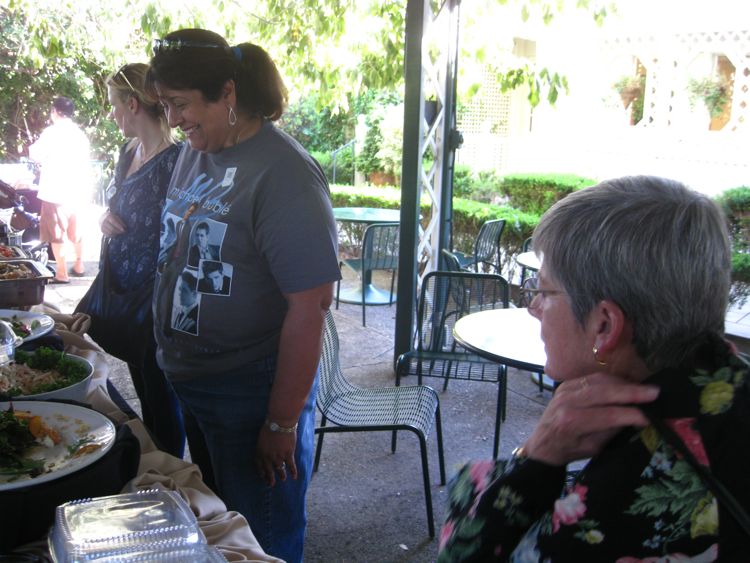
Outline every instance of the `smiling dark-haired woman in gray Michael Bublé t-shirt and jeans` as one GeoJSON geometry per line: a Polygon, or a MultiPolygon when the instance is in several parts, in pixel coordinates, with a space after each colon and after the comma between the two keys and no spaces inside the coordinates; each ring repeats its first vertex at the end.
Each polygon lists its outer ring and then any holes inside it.
{"type": "Polygon", "coordinates": [[[321,334],[340,277],[328,185],[272,123],[286,90],[260,47],[176,31],[155,41],[150,82],[187,139],[162,215],[176,236],[159,257],[159,363],[206,481],[268,553],[300,561],[321,334]]]}

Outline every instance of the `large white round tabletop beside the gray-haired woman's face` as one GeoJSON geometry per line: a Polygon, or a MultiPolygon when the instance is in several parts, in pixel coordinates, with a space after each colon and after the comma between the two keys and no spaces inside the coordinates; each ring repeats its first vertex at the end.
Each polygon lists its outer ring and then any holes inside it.
{"type": "Polygon", "coordinates": [[[454,338],[476,354],[533,372],[544,371],[547,354],[541,325],[526,309],[491,309],[460,318],[454,338]]]}

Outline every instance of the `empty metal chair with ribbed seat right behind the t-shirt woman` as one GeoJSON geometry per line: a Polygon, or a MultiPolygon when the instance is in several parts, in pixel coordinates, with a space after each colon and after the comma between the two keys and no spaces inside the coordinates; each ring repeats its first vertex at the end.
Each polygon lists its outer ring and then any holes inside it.
{"type": "Polygon", "coordinates": [[[391,451],[396,452],[398,430],[413,432],[419,440],[422,458],[427,526],[430,537],[435,537],[435,520],[430,492],[430,470],[427,459],[427,436],[432,425],[437,434],[440,484],[445,484],[443,430],[440,423],[440,401],[437,393],[426,385],[408,387],[363,388],[344,377],[339,363],[339,338],[333,314],[329,311],[323,334],[320,358],[320,380],[317,405],[321,413],[320,426],[315,429],[318,444],[315,449],[314,471],[318,470],[323,436],[327,432],[376,432],[390,430],[391,451]],[[328,426],[328,423],[334,426],[328,426]]]}

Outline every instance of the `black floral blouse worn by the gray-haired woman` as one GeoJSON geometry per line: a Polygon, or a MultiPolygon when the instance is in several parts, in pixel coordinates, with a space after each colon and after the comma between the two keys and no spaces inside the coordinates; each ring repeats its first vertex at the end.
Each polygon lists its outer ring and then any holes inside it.
{"type": "MultiPolygon", "coordinates": [[[[658,412],[750,511],[748,367],[716,337],[695,358],[649,379],[658,412]]],[[[463,467],[438,561],[750,561],[750,537],[651,426],[621,432],[565,477],[534,460],[463,467]]]]}

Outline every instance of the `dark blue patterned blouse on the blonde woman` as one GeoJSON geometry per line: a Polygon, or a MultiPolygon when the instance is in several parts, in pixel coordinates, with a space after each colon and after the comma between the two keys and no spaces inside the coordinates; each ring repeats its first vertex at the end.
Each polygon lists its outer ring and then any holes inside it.
{"type": "MultiPolygon", "coordinates": [[[[128,291],[153,280],[159,253],[159,224],[164,199],[182,145],[172,145],[125,178],[133,151],[120,150],[115,168],[115,194],[109,209],[120,217],[126,231],[109,243],[110,281],[128,291]]],[[[99,264],[101,269],[103,264],[99,264]]]]}

